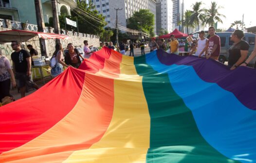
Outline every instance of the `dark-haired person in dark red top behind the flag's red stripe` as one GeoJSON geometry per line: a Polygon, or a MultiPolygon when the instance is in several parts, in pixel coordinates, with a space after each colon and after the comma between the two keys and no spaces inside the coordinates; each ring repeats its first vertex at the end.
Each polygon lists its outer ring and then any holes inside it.
{"type": "Polygon", "coordinates": [[[69,43],[68,51],[65,53],[65,63],[78,68],[81,65],[80,57],[84,60],[84,57],[74,48],[73,44],[69,43]]]}

